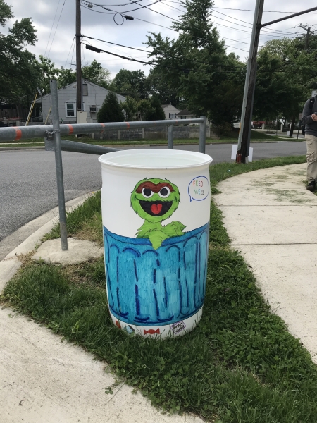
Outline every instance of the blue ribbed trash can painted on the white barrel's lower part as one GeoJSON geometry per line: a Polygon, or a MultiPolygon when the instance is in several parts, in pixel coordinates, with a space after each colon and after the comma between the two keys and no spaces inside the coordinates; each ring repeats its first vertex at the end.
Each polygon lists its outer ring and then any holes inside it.
{"type": "Polygon", "coordinates": [[[168,238],[157,250],[147,238],[127,238],[104,227],[108,303],[120,321],[173,324],[204,304],[209,223],[168,238]]]}

